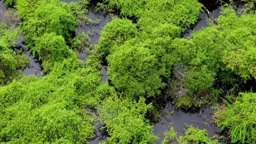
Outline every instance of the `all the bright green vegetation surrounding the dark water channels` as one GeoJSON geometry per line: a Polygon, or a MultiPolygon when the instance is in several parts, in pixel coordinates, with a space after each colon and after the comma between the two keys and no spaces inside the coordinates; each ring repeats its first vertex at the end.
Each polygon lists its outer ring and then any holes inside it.
{"type": "MultiPolygon", "coordinates": [[[[150,116],[164,98],[184,109],[222,100],[216,123],[232,143],[255,143],[256,97],[242,89],[256,79],[255,1],[245,3],[250,11],[237,16],[223,7],[217,25],[210,21],[185,39],[179,36],[205,9],[197,0],[106,0],[105,8],[124,17],[107,23],[83,62],[76,52],[89,38],[75,30],[92,22],[87,0],[5,1],[20,20],[0,27],[0,141],[86,143],[100,122],[102,143],[155,143],[150,116]],[[43,77],[18,73],[28,63],[13,49],[20,33],[43,77]],[[108,82],[101,82],[102,59],[108,82]]],[[[162,143],[218,143],[192,125],[181,136],[170,126],[164,136],[162,143]]]]}

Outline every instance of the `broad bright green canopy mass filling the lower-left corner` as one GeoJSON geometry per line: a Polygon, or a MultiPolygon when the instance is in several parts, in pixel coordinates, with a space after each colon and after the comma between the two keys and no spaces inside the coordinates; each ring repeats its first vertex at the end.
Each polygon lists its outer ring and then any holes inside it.
{"type": "Polygon", "coordinates": [[[98,104],[100,74],[69,71],[66,64],[43,79],[24,77],[0,88],[1,141],[77,143],[92,138],[92,118],[80,108],[98,104]]]}

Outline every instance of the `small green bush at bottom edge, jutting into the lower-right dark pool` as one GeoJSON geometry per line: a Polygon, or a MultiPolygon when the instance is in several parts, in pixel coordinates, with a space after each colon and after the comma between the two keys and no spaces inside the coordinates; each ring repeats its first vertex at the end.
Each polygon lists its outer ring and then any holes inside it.
{"type": "Polygon", "coordinates": [[[200,130],[198,128],[194,128],[193,125],[189,125],[188,129],[185,130],[184,136],[179,136],[179,143],[189,144],[189,143],[207,143],[214,144],[219,143],[217,140],[212,141],[207,134],[207,130],[200,130]]]}

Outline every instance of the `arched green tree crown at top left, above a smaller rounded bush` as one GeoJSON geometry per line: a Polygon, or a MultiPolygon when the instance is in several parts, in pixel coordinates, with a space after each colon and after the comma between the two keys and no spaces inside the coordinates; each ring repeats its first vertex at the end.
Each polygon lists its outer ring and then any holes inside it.
{"type": "MultiPolygon", "coordinates": [[[[35,9],[29,17],[25,17],[25,21],[21,23],[21,29],[24,31],[24,37],[28,43],[28,47],[31,48],[35,45],[34,39],[41,37],[44,33],[52,32],[55,32],[57,35],[62,35],[63,38],[69,42],[71,33],[75,31],[75,17],[70,9],[63,8],[60,2],[55,3],[42,2],[42,4],[38,5],[38,8],[35,9]]],[[[18,5],[17,8],[18,13],[20,9],[29,9],[29,7],[19,9],[18,5]]],[[[26,14],[26,16],[28,15],[26,14]]]]}

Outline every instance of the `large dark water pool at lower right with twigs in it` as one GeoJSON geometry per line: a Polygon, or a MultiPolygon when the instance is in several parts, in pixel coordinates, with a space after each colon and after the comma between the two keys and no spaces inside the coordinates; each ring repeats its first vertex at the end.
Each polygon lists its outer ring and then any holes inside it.
{"type": "Polygon", "coordinates": [[[158,143],[164,139],[164,132],[168,130],[168,125],[172,123],[177,135],[183,135],[185,125],[193,124],[193,127],[199,129],[207,129],[210,137],[218,135],[220,128],[214,125],[212,121],[213,110],[210,106],[207,106],[202,111],[195,113],[184,112],[182,110],[175,109],[175,106],[168,103],[164,109],[164,112],[160,115],[160,121],[154,124],[154,134],[158,135],[158,143]]]}

